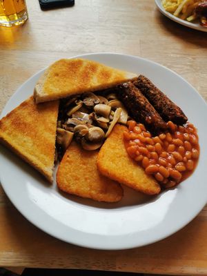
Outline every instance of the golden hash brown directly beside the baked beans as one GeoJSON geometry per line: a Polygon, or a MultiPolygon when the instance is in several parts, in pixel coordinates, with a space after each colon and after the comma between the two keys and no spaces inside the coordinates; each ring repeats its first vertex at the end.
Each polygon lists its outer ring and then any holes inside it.
{"type": "Polygon", "coordinates": [[[119,181],[141,193],[156,195],[160,186],[144,169],[132,160],[124,146],[123,132],[126,126],[117,124],[101,147],[97,158],[99,171],[110,179],[119,181]]]}

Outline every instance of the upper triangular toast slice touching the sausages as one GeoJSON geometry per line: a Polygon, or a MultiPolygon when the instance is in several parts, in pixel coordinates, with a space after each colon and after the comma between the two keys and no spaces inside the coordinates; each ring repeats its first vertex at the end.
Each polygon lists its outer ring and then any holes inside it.
{"type": "Polygon", "coordinates": [[[34,88],[37,103],[111,88],[138,76],[88,59],[60,59],[41,76],[34,88]]]}

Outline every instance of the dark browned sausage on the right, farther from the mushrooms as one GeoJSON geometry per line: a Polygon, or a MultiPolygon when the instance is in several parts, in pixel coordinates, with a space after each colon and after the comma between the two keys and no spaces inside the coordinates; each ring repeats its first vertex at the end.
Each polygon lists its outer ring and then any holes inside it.
{"type": "Polygon", "coordinates": [[[148,78],[140,75],[133,83],[165,121],[173,121],[177,125],[188,121],[181,108],[168,99],[148,78]]]}

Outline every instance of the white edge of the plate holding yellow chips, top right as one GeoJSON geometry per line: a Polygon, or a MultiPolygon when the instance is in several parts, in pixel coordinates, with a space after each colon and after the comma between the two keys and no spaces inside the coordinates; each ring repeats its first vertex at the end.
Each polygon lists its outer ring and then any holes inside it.
{"type": "Polygon", "coordinates": [[[186,20],[182,20],[179,19],[178,17],[175,17],[173,14],[171,14],[170,12],[166,12],[166,10],[164,9],[164,7],[161,4],[161,0],[155,0],[155,3],[157,5],[157,8],[159,9],[159,11],[164,14],[166,17],[172,19],[173,21],[184,25],[186,27],[189,27],[191,29],[195,29],[195,30],[201,30],[202,32],[207,32],[207,28],[201,26],[199,23],[192,23],[192,22],[188,22],[186,20]]]}

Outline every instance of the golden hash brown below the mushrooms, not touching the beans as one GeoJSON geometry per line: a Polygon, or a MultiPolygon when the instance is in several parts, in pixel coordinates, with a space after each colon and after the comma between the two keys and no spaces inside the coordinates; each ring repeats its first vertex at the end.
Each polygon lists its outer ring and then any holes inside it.
{"type": "Polygon", "coordinates": [[[123,197],[119,183],[97,170],[97,150],[83,150],[72,141],[57,170],[60,190],[96,201],[116,202],[123,197]]]}

